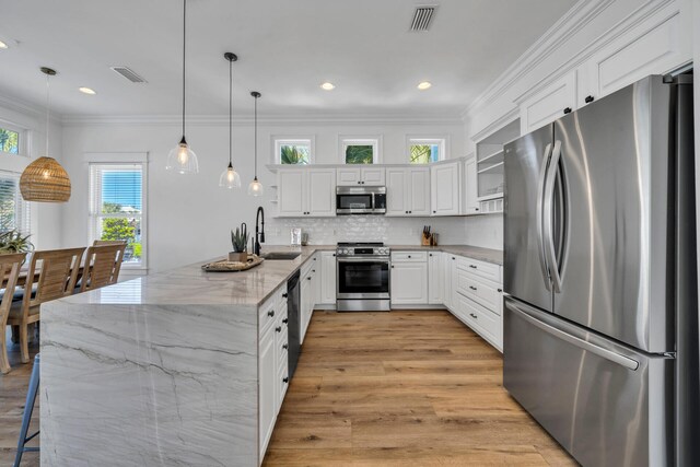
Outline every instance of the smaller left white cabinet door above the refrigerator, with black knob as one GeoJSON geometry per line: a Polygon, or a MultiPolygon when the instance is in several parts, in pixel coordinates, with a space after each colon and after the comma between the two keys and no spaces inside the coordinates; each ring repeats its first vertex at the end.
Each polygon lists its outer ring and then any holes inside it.
{"type": "Polygon", "coordinates": [[[521,132],[527,135],[576,108],[576,71],[553,81],[521,103],[521,132]]]}

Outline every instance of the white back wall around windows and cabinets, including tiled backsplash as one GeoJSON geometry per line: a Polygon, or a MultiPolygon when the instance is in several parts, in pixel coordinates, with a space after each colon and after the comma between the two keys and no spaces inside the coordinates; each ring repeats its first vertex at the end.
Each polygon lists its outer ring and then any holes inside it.
{"type": "MultiPolygon", "coordinates": [[[[383,162],[406,162],[406,135],[450,135],[451,154],[464,154],[464,127],[460,121],[372,124],[358,122],[265,122],[258,126],[258,176],[266,186],[262,199],[246,194],[253,178],[253,127],[249,122],[234,124],[234,167],[241,173],[243,189],[230,191],[219,187],[219,175],[228,164],[228,124],[202,121],[190,125],[187,140],[199,160],[199,174],[183,176],[165,171],[167,152],[179,140],[179,126],[164,124],[71,122],[63,128],[66,168],[71,174],[73,197],[65,206],[62,235],[67,243],[86,244],[88,218],[88,163],[84,153],[94,152],[148,152],[148,266],[151,271],[201,261],[225,254],[231,249],[231,227],[241,222],[254,229],[258,206],[266,212],[268,244],[289,244],[291,224],[305,226],[313,243],[335,243],[350,240],[343,225],[352,220],[273,220],[276,206],[270,188],[273,175],[265,167],[271,157],[271,135],[315,135],[316,163],[338,162],[338,135],[383,135],[383,162]],[[334,231],[336,234],[334,234],[334,231]],[[70,242],[68,242],[70,240],[70,242]]],[[[360,218],[354,218],[360,222],[360,218]]],[[[365,224],[364,240],[376,235],[377,222],[365,224]]],[[[465,220],[454,219],[383,219],[382,237],[392,243],[418,244],[423,224],[440,224],[443,243],[464,243],[465,220]],[[438,222],[439,221],[439,222],[438,222]]],[[[502,242],[495,238],[494,245],[502,242]]],[[[500,247],[500,246],[499,246],[500,247]]]]}

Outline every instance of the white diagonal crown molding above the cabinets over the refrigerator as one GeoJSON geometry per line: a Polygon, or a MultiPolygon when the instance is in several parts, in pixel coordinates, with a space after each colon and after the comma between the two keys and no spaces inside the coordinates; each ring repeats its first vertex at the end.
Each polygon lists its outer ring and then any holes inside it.
{"type": "Polygon", "coordinates": [[[615,0],[580,0],[462,112],[462,119],[501,95],[614,2],[615,0]]]}

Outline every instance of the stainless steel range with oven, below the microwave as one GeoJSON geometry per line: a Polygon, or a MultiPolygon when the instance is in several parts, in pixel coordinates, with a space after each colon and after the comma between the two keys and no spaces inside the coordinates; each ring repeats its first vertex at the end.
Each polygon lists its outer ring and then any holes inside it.
{"type": "Polygon", "coordinates": [[[338,243],[336,308],[339,312],[388,312],[389,247],[375,243],[338,243]]]}

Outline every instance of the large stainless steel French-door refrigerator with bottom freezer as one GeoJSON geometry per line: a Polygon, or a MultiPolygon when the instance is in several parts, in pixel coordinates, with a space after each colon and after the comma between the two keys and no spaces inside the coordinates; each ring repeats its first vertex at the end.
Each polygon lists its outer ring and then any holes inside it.
{"type": "Polygon", "coordinates": [[[504,151],[505,388],[583,465],[700,465],[692,77],[504,151]]]}

